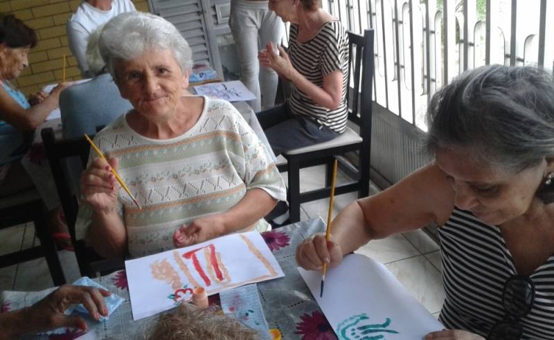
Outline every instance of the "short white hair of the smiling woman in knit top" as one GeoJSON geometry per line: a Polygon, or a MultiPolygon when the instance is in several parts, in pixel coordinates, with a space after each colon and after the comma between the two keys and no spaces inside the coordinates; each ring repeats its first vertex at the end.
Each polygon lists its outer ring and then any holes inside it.
{"type": "Polygon", "coordinates": [[[152,48],[171,50],[181,70],[193,66],[193,53],[172,23],[145,12],[126,12],[110,19],[100,34],[100,55],[117,79],[117,60],[132,60],[152,48]]]}

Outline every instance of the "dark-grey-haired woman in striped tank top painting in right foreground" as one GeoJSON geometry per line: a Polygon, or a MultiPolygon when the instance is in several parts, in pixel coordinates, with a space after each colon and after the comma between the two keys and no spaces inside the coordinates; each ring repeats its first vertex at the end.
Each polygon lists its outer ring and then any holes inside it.
{"type": "Polygon", "coordinates": [[[369,240],[437,223],[449,330],[426,339],[554,339],[554,82],[537,68],[483,66],[434,95],[435,161],[348,205],[332,237],[296,249],[308,270],[369,240]]]}

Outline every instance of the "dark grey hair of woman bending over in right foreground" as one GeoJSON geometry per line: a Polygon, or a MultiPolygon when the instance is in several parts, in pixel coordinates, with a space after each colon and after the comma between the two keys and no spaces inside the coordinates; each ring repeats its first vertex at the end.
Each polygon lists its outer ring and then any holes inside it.
{"type": "Polygon", "coordinates": [[[492,169],[519,172],[554,155],[554,82],[533,67],[482,66],[438,91],[425,147],[470,148],[492,169]]]}

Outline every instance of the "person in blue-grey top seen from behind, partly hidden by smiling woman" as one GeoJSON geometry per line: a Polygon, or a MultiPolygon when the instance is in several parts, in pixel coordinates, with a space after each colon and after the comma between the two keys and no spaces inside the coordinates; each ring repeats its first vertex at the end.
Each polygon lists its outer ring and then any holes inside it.
{"type": "Polygon", "coordinates": [[[93,76],[89,82],[66,88],[60,95],[60,111],[64,138],[93,135],[96,127],[107,125],[133,106],[121,97],[114,79],[107,73],[100,56],[98,39],[104,25],[89,35],[87,65],[93,76]]]}

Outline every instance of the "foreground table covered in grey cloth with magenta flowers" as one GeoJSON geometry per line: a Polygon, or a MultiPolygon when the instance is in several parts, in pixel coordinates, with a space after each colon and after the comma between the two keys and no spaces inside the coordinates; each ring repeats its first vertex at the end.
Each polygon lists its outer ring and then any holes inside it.
{"type": "MultiPolygon", "coordinates": [[[[316,218],[262,234],[283,269],[285,277],[258,283],[258,293],[269,328],[278,328],[283,339],[301,339],[305,334],[312,335],[307,339],[336,339],[319,305],[314,301],[310,290],[298,273],[294,257],[296,246],[302,240],[315,232],[324,231],[325,222],[321,218],[316,218]],[[317,337],[318,335],[320,337],[317,337]]],[[[125,271],[114,272],[94,280],[123,297],[125,302],[108,321],[97,323],[89,320],[89,329],[95,332],[98,339],[139,339],[141,332],[148,328],[156,316],[133,321],[125,271]]],[[[15,309],[36,301],[39,299],[36,294],[40,293],[14,295],[15,293],[5,292],[2,297],[10,294],[12,294],[10,305],[15,309]]],[[[44,293],[41,296],[44,296],[44,293]]],[[[6,303],[6,299],[2,301],[6,303]]],[[[46,339],[46,337],[34,336],[26,339],[46,339]]]]}

